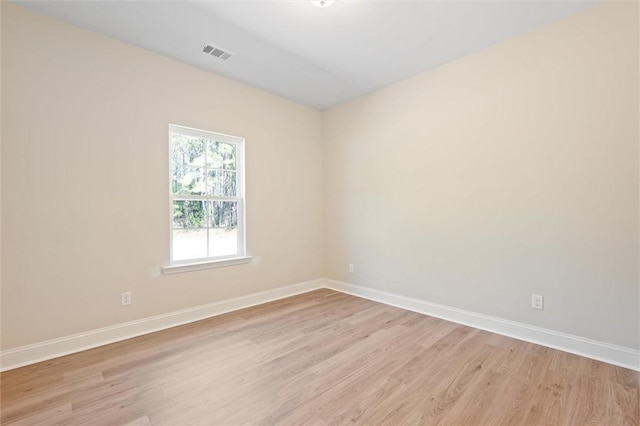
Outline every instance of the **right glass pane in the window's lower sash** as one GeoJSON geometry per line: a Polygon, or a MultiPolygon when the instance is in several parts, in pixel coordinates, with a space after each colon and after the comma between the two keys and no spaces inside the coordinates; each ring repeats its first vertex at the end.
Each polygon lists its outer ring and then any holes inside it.
{"type": "Polygon", "coordinates": [[[238,253],[237,201],[212,201],[209,204],[209,256],[238,253]]]}

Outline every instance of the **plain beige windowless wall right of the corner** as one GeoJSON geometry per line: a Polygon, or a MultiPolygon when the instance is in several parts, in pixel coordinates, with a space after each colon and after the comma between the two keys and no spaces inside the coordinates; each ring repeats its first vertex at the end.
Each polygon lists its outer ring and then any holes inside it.
{"type": "Polygon", "coordinates": [[[639,348],[638,34],[600,5],[327,111],[327,276],[639,348]]]}

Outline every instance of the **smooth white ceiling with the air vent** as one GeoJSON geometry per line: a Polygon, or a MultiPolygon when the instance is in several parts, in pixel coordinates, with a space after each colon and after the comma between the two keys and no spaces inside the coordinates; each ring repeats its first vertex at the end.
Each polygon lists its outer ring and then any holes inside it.
{"type": "Polygon", "coordinates": [[[318,109],[338,105],[597,1],[16,3],[318,109]],[[221,61],[210,43],[234,53],[221,61]]]}

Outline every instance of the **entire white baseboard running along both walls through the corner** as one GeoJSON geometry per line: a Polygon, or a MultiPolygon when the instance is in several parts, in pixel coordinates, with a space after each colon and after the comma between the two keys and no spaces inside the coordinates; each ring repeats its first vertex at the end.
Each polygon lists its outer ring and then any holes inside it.
{"type": "Polygon", "coordinates": [[[1,351],[0,371],[11,370],[320,288],[328,288],[386,305],[396,306],[409,311],[442,318],[458,324],[468,325],[481,330],[640,371],[640,351],[635,349],[329,279],[318,279],[287,287],[279,287],[234,299],[209,303],[170,312],[168,314],[1,351]]]}

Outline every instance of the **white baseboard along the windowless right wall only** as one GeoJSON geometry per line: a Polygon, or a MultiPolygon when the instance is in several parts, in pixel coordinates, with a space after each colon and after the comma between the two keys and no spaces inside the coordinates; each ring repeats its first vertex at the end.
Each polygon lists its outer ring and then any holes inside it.
{"type": "Polygon", "coordinates": [[[326,288],[342,293],[640,371],[640,351],[635,349],[616,346],[541,327],[534,327],[502,318],[482,315],[424,300],[399,296],[341,281],[324,280],[324,283],[326,288]]]}

